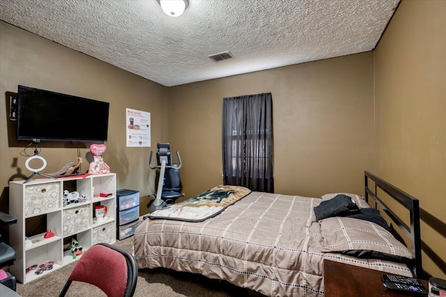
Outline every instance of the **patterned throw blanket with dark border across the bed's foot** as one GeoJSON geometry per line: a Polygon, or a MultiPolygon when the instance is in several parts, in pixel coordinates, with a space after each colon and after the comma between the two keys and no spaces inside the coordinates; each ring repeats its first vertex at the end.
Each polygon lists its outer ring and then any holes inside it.
{"type": "Polygon", "coordinates": [[[201,222],[220,214],[249,193],[251,190],[243,186],[216,186],[197,197],[153,211],[148,217],[201,222]]]}

